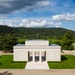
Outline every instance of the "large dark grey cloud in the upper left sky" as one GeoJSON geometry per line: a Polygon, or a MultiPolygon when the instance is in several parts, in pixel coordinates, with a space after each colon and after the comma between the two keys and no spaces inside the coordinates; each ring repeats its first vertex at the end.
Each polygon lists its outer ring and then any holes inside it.
{"type": "Polygon", "coordinates": [[[49,0],[0,0],[0,14],[9,14],[12,12],[33,11],[50,4],[49,0]]]}

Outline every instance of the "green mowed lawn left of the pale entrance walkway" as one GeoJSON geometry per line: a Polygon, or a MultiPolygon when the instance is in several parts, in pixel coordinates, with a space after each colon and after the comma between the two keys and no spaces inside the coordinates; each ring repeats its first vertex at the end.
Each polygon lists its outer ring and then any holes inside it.
{"type": "Polygon", "coordinates": [[[13,55],[2,55],[0,57],[0,69],[24,69],[26,62],[14,62],[13,55]]]}

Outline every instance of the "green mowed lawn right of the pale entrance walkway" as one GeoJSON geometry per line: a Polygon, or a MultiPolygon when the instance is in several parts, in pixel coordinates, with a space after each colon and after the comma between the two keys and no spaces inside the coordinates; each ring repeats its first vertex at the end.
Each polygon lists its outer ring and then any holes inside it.
{"type": "Polygon", "coordinates": [[[75,56],[62,55],[61,62],[48,62],[51,69],[75,69],[75,56]]]}

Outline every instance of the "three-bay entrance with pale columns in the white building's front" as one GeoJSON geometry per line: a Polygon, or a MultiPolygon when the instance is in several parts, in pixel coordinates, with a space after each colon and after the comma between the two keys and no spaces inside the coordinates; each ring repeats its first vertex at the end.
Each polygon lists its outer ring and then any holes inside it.
{"type": "Polygon", "coordinates": [[[28,51],[28,62],[44,62],[46,61],[46,51],[28,51]]]}

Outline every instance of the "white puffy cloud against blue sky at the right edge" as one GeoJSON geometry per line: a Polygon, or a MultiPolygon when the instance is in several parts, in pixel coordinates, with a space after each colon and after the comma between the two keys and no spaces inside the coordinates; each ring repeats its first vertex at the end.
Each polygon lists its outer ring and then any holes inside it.
{"type": "Polygon", "coordinates": [[[74,14],[65,13],[65,14],[54,15],[52,19],[63,20],[63,21],[73,21],[75,20],[75,13],[74,14]]]}

